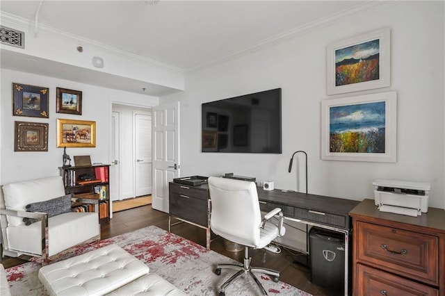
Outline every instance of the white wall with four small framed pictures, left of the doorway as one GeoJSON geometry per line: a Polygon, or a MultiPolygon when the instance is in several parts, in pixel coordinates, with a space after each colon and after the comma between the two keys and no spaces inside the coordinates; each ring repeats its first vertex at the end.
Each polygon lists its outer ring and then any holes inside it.
{"type": "MultiPolygon", "coordinates": [[[[56,147],[56,119],[92,120],[96,122],[95,148],[67,148],[67,154],[90,155],[92,163],[109,163],[111,104],[122,103],[135,106],[157,106],[159,99],[133,92],[122,92],[95,85],[76,83],[47,76],[1,69],[1,179],[0,184],[12,181],[35,179],[40,176],[58,175],[58,167],[63,165],[63,148],[56,147]],[[12,115],[12,83],[38,85],[49,88],[49,118],[23,117],[12,115]],[[56,113],[56,88],[82,91],[82,115],[56,113]],[[14,122],[49,123],[48,151],[15,152],[14,122]]],[[[73,164],[73,162],[72,162],[73,164]]]]}

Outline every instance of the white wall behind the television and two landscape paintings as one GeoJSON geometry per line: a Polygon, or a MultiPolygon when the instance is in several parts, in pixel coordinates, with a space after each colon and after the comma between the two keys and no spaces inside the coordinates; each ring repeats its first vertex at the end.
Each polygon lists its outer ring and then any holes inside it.
{"type": "Polygon", "coordinates": [[[305,191],[304,158],[299,177],[287,172],[293,151],[308,154],[309,193],[346,199],[373,198],[373,179],[423,181],[430,206],[445,208],[444,192],[444,3],[407,1],[221,65],[187,74],[186,91],[161,99],[181,101],[181,174],[234,172],[273,180],[275,188],[305,191]],[[391,28],[391,87],[326,95],[327,44],[391,28]],[[282,88],[283,154],[201,153],[201,104],[282,88]],[[320,105],[324,99],[396,90],[397,162],[322,161],[320,105]]]}

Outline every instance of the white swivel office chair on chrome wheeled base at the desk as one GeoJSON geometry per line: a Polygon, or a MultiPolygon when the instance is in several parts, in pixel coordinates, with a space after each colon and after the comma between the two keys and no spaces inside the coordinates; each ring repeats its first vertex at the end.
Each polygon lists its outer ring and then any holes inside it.
{"type": "Polygon", "coordinates": [[[266,290],[252,272],[263,272],[272,276],[273,281],[280,280],[280,272],[267,268],[250,266],[249,247],[262,249],[277,236],[284,235],[283,215],[280,208],[275,208],[261,219],[257,186],[254,182],[239,181],[218,177],[209,177],[211,199],[210,227],[213,233],[227,240],[244,245],[244,264],[218,264],[215,273],[220,275],[221,268],[238,270],[220,288],[220,296],[225,295],[225,288],[243,274],[250,274],[263,295],[266,290]],[[279,215],[277,224],[268,220],[279,215]]]}

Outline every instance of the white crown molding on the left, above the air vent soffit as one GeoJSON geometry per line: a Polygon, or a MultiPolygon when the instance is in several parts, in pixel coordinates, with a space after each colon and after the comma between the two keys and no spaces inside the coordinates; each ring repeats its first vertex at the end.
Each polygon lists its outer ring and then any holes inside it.
{"type": "MultiPolygon", "coordinates": [[[[25,31],[29,34],[34,33],[35,37],[38,38],[38,35],[45,34],[48,36],[51,36],[53,38],[56,38],[58,40],[68,40],[69,42],[78,42],[79,45],[81,44],[83,47],[92,47],[95,49],[98,49],[100,51],[107,52],[109,54],[113,54],[115,56],[125,56],[126,58],[129,58],[131,60],[135,60],[138,63],[143,63],[145,65],[149,65],[152,67],[158,67],[161,69],[166,69],[172,72],[178,72],[181,74],[184,74],[184,69],[181,69],[179,67],[175,67],[172,65],[168,65],[165,63],[161,63],[157,60],[152,60],[151,58],[146,58],[145,56],[139,56],[137,54],[133,54],[129,51],[124,51],[122,49],[117,49],[115,47],[108,46],[107,44],[103,44],[100,42],[96,42],[94,40],[90,40],[88,38],[83,38],[79,35],[74,35],[71,33],[67,33],[65,31],[58,30],[57,28],[53,28],[51,26],[46,26],[44,24],[38,24],[38,30],[35,32],[34,24],[35,22],[29,21],[28,19],[24,19],[23,17],[17,17],[17,15],[12,15],[10,13],[5,13],[3,11],[0,11],[0,24],[2,26],[7,26],[9,28],[14,28],[19,31],[25,31]]],[[[25,35],[26,38],[26,35],[25,35]]],[[[26,40],[25,40],[26,44],[26,40]]]]}

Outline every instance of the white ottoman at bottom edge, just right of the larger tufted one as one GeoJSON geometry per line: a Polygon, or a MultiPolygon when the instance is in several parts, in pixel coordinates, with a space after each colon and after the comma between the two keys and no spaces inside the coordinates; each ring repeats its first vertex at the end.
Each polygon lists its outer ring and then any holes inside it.
{"type": "Polygon", "coordinates": [[[115,290],[110,296],[147,296],[147,295],[168,295],[168,296],[184,296],[181,290],[177,289],[168,281],[165,281],[159,275],[150,273],[136,281],[127,283],[127,285],[115,290]]]}

